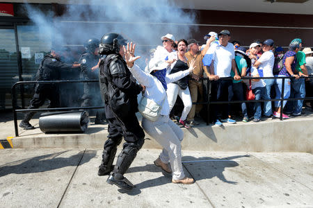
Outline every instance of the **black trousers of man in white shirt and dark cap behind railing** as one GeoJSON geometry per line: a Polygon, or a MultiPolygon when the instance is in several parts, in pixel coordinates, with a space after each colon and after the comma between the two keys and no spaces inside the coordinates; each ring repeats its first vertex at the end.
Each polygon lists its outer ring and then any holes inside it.
{"type": "MultiPolygon", "coordinates": [[[[232,80],[211,81],[211,101],[232,101],[233,96],[232,80]]],[[[227,118],[230,114],[230,104],[213,104],[211,109],[214,123],[216,119],[227,118]]]]}

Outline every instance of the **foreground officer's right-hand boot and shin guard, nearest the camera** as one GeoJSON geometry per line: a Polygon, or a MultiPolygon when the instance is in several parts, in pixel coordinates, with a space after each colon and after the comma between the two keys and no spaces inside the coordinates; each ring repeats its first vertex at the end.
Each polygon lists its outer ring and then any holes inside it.
{"type": "Polygon", "coordinates": [[[114,166],[113,172],[110,174],[107,183],[120,187],[120,189],[131,190],[134,188],[134,184],[131,184],[126,177],[124,177],[124,173],[128,170],[131,163],[134,161],[136,155],[138,153],[138,148],[134,146],[125,147],[120,155],[118,155],[118,161],[114,166]]]}

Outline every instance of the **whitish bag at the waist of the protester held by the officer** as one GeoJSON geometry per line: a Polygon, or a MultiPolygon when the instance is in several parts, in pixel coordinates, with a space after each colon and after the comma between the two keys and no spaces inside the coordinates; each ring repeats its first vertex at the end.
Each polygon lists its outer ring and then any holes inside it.
{"type": "MultiPolygon", "coordinates": [[[[164,99],[165,100],[165,99],[164,99]]],[[[138,111],[149,121],[157,121],[161,113],[161,105],[154,102],[152,99],[143,96],[138,103],[138,111]]]]}

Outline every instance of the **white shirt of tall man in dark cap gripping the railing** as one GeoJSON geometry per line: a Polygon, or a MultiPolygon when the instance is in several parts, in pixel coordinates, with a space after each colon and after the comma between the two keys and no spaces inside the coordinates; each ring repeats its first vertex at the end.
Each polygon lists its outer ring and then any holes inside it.
{"type": "Polygon", "coordinates": [[[234,45],[230,42],[227,46],[212,44],[207,51],[207,54],[212,55],[214,60],[214,74],[223,77],[230,77],[232,70],[232,60],[234,59],[234,45]]]}

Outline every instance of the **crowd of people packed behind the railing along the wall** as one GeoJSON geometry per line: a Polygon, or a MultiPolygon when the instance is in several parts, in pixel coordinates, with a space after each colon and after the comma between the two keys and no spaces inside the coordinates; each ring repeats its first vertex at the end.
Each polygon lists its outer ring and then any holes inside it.
{"type": "MultiPolygon", "coordinates": [[[[210,101],[280,99],[282,88],[284,99],[305,98],[306,94],[312,96],[312,78],[307,77],[313,75],[313,52],[310,48],[303,49],[303,41],[300,38],[292,40],[287,51],[275,46],[271,39],[255,40],[246,49],[239,41],[230,42],[230,38],[230,31],[212,31],[204,36],[207,43],[200,46],[200,42],[195,39],[176,41],[174,35],[166,34],[161,37],[163,47],[158,46],[156,50],[152,50],[153,58],[170,65],[167,73],[187,69],[190,62],[195,61],[195,70],[188,78],[167,85],[170,110],[175,106],[177,95],[184,105],[181,112],[177,114],[175,111],[171,114],[177,123],[186,128],[198,125],[194,118],[199,114],[202,105],[192,103],[201,103],[204,94],[208,93],[210,101]],[[204,92],[200,79],[203,77],[211,80],[210,92],[204,92]],[[282,77],[288,78],[283,80],[282,77]],[[248,98],[248,92],[252,94],[252,98],[248,98]]],[[[284,101],[282,118],[299,116],[303,103],[303,100],[284,101]]],[[[312,101],[305,104],[312,107],[312,101]]],[[[233,116],[237,113],[236,105],[211,105],[211,112],[215,125],[223,125],[223,122],[236,123],[233,116]]],[[[281,112],[280,101],[273,104],[271,101],[242,102],[240,115],[243,122],[259,122],[262,119],[279,118],[281,112]]]]}

